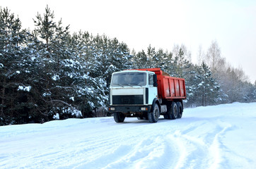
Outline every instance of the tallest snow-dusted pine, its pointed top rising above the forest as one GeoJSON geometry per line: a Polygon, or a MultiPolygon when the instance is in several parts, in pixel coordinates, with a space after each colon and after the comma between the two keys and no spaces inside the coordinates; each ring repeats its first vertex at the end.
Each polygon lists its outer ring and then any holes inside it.
{"type": "MultiPolygon", "coordinates": [[[[71,49],[69,26],[63,27],[62,20],[54,21],[54,13],[47,6],[44,15],[39,13],[34,20],[33,81],[36,109],[43,118],[79,117],[81,112],[73,106],[73,92],[77,76],[81,77],[79,58],[71,49]]],[[[82,75],[83,76],[83,75],[82,75]]]]}

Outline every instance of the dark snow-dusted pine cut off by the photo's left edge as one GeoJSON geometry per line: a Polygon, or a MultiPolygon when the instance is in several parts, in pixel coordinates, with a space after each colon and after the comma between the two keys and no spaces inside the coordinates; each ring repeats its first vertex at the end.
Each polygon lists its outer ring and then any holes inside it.
{"type": "Polygon", "coordinates": [[[16,123],[28,108],[30,86],[23,80],[28,35],[19,18],[8,8],[0,9],[0,125],[16,123]]]}

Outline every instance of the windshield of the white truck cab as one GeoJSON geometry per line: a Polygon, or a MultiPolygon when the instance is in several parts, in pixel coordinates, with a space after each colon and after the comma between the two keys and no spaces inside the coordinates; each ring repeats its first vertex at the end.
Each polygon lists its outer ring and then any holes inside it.
{"type": "Polygon", "coordinates": [[[117,86],[145,86],[146,85],[146,73],[138,72],[124,72],[115,73],[112,76],[113,87],[117,86]]]}

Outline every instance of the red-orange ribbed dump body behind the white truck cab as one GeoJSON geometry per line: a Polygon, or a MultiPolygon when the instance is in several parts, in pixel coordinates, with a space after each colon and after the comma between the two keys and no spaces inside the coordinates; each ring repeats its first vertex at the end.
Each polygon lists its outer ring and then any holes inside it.
{"type": "Polygon", "coordinates": [[[178,77],[164,75],[161,68],[146,68],[137,70],[147,70],[156,73],[158,82],[158,98],[174,100],[186,99],[185,80],[178,77]]]}

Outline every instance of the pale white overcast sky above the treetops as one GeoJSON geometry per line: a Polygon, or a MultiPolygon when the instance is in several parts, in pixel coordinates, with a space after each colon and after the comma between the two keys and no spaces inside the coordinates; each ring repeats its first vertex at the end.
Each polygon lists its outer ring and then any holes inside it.
{"type": "Polygon", "coordinates": [[[71,32],[117,37],[131,50],[185,44],[196,62],[199,45],[206,51],[216,39],[228,63],[256,80],[255,0],[2,0],[0,6],[33,30],[33,18],[47,4],[71,32]]]}

